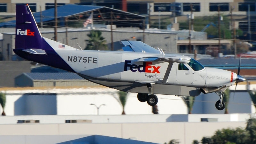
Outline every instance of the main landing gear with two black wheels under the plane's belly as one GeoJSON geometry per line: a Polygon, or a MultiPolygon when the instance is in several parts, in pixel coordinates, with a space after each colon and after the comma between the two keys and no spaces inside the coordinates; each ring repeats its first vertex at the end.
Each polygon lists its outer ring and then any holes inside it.
{"type": "Polygon", "coordinates": [[[146,102],[148,103],[148,105],[150,106],[155,106],[158,102],[158,98],[156,95],[153,94],[152,92],[152,85],[151,84],[146,84],[148,87],[148,93],[138,93],[137,98],[140,102],[146,102]]]}

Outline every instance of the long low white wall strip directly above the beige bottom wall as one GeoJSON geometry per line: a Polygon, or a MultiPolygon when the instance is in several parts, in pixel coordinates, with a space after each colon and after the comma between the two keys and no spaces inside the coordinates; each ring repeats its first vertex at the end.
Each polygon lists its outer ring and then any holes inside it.
{"type": "MultiPolygon", "coordinates": [[[[54,96],[52,96],[52,99],[54,100],[54,96]]],[[[42,101],[44,100],[42,99],[42,101]]],[[[40,108],[44,106],[44,104],[40,104],[40,105],[41,105],[40,108]]],[[[52,104],[52,106],[49,106],[49,107],[50,108],[56,107],[56,105],[52,104]]],[[[34,107],[30,106],[30,108],[38,109],[39,107],[36,108],[35,106],[34,107]]],[[[23,109],[21,108],[19,111],[23,112],[24,111],[23,109]]],[[[30,116],[0,116],[0,124],[17,124],[18,120],[39,120],[40,124],[64,124],[66,120],[92,120],[92,123],[201,122],[201,118],[215,118],[217,119],[216,122],[246,122],[250,117],[256,117],[256,115],[255,114],[30,115],[30,116]]]]}

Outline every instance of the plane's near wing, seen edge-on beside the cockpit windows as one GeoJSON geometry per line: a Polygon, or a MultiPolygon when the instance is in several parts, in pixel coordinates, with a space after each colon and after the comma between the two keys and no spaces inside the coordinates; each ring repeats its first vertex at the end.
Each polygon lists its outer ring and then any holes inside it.
{"type": "Polygon", "coordinates": [[[178,54],[165,54],[165,55],[154,55],[151,57],[139,58],[135,62],[139,61],[157,61],[157,62],[177,62],[177,63],[189,63],[191,58],[188,56],[178,54]]]}

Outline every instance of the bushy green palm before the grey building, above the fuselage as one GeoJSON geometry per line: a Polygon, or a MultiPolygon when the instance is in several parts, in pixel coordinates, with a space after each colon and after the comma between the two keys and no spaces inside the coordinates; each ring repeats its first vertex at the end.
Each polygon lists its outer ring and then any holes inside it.
{"type": "Polygon", "coordinates": [[[103,36],[101,36],[101,31],[99,30],[92,30],[90,34],[87,34],[89,37],[87,42],[87,46],[85,50],[107,50],[108,46],[105,44],[106,40],[103,36]]]}

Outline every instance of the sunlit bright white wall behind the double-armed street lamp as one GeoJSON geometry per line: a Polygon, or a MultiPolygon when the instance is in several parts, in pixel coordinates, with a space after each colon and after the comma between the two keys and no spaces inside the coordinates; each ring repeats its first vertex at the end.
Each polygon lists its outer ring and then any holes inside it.
{"type": "MultiPolygon", "coordinates": [[[[25,93],[57,93],[57,115],[96,115],[97,108],[91,103],[101,106],[99,109],[100,115],[120,115],[123,111],[119,102],[117,90],[105,88],[102,86],[93,88],[73,88],[73,89],[58,89],[47,88],[27,89],[18,88],[17,90],[4,90],[6,92],[5,114],[7,116],[15,115],[15,108],[23,107],[22,103],[18,103],[19,99],[25,93]],[[20,89],[20,90],[19,90],[20,89]],[[22,104],[22,105],[20,105],[22,104]]],[[[34,96],[39,98],[40,96],[34,96]]],[[[41,103],[47,105],[51,103],[50,99],[44,97],[41,103]]],[[[37,100],[35,100],[37,102],[37,100]]],[[[187,107],[181,97],[158,95],[158,112],[159,114],[187,114],[187,107]],[[172,99],[172,100],[166,100],[172,99]]],[[[35,105],[36,106],[36,105],[35,105]]],[[[44,109],[44,108],[43,108],[44,109]]],[[[152,114],[152,106],[146,102],[142,103],[137,99],[137,93],[128,93],[128,99],[124,107],[126,114],[152,114]]],[[[2,108],[0,108],[2,112],[2,108]]]]}

